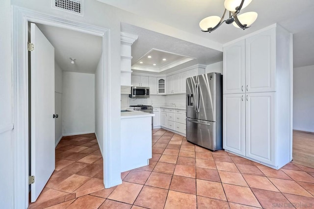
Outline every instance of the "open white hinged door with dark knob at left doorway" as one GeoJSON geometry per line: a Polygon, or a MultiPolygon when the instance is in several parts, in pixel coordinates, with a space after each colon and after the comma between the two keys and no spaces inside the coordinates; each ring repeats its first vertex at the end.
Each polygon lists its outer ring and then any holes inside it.
{"type": "Polygon", "coordinates": [[[31,202],[35,202],[54,170],[54,48],[31,23],[31,202]]]}

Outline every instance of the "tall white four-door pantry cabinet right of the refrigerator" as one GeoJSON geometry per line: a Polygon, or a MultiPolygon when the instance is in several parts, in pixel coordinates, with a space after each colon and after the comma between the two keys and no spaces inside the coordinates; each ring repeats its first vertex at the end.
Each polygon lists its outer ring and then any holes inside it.
{"type": "Polygon", "coordinates": [[[223,49],[223,148],[275,169],[292,160],[291,40],[275,24],[223,49]]]}

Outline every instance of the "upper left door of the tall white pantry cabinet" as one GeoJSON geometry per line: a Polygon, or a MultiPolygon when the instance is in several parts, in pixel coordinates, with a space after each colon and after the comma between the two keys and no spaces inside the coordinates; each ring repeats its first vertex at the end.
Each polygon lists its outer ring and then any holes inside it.
{"type": "Polygon", "coordinates": [[[223,49],[223,93],[245,92],[245,41],[223,49]]]}

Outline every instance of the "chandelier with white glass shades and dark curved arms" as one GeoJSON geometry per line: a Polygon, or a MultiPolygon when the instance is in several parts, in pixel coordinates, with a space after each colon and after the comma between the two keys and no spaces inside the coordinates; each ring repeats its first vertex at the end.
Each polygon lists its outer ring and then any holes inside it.
{"type": "Polygon", "coordinates": [[[222,17],[209,16],[204,18],[200,22],[202,31],[210,33],[217,29],[223,22],[226,22],[227,24],[233,23],[235,27],[242,28],[243,30],[249,28],[250,25],[256,21],[257,13],[246,12],[241,15],[239,15],[239,13],[240,10],[249,5],[251,1],[252,0],[225,0],[225,11],[222,17]],[[224,20],[227,11],[229,11],[229,18],[224,20]]]}

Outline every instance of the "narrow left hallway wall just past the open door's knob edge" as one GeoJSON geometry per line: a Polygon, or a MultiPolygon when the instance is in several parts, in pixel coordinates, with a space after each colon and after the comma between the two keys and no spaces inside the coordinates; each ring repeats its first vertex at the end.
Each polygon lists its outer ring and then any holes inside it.
{"type": "Polygon", "coordinates": [[[58,115],[58,118],[54,118],[56,146],[62,138],[62,70],[56,62],[54,62],[54,114],[58,115]]]}

